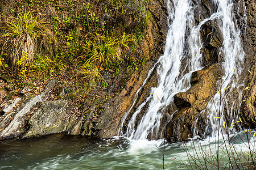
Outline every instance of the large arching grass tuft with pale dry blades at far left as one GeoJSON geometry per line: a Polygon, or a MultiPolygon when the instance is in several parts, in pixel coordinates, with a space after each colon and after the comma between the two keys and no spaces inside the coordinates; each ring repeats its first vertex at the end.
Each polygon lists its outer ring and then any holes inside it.
{"type": "Polygon", "coordinates": [[[18,14],[17,18],[12,17],[6,22],[5,32],[2,33],[0,40],[1,54],[6,55],[14,69],[18,65],[16,61],[20,61],[24,57],[24,53],[26,53],[26,57],[18,66],[24,67],[31,63],[39,41],[43,44],[47,43],[46,25],[46,22],[38,20],[38,16],[26,11],[23,14],[18,14]]]}

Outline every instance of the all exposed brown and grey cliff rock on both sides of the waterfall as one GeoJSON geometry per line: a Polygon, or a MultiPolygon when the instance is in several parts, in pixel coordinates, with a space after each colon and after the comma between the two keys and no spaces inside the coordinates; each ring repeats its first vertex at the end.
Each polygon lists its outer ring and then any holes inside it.
{"type": "MultiPolygon", "coordinates": [[[[234,2],[236,27],[241,30],[243,49],[246,54],[244,69],[241,73],[241,82],[245,82],[245,90],[242,90],[243,103],[240,107],[241,118],[244,122],[242,126],[247,128],[255,128],[254,122],[256,121],[255,3],[253,0],[234,2]]],[[[195,6],[196,23],[200,23],[217,10],[210,0],[192,1],[192,4],[195,6]]],[[[119,94],[101,103],[97,115],[97,101],[90,105],[84,114],[76,115],[73,113],[73,108],[76,106],[71,105],[68,100],[53,100],[51,95],[56,93],[57,80],[51,80],[45,90],[38,95],[33,94],[30,98],[17,96],[7,100],[8,92],[2,88],[0,90],[2,103],[0,105],[0,139],[26,138],[61,132],[71,135],[97,135],[101,138],[113,137],[118,135],[123,115],[132,107],[133,101],[137,98],[130,115],[123,124],[123,130],[125,130],[127,121],[133,112],[146,100],[151,87],[155,87],[158,83],[158,75],[153,70],[142,90],[136,94],[146,79],[148,71],[163,53],[168,31],[166,6],[166,2],[152,1],[152,17],[148,20],[146,38],[143,40],[144,57],[149,59],[141,71],[135,71],[119,94]]],[[[220,65],[223,60],[220,50],[223,36],[219,25],[214,20],[201,26],[200,36],[204,42],[201,50],[205,67],[192,73],[191,87],[186,92],[179,92],[174,96],[174,105],[168,106],[166,111],[175,112],[175,114],[170,117],[167,113],[163,117],[163,125],[159,130],[165,131],[164,137],[170,142],[186,140],[195,128],[199,129],[197,133],[201,137],[209,135],[205,134],[207,115],[199,113],[207,107],[210,99],[218,91],[216,82],[223,75],[220,65]],[[195,120],[197,123],[192,124],[195,120]]],[[[29,87],[24,88],[20,94],[29,93],[29,89],[29,87]]],[[[65,89],[63,91],[62,95],[67,95],[65,89]]],[[[145,112],[142,110],[138,114],[137,121],[140,121],[145,112]]],[[[150,135],[148,139],[155,139],[155,137],[150,135]]]]}

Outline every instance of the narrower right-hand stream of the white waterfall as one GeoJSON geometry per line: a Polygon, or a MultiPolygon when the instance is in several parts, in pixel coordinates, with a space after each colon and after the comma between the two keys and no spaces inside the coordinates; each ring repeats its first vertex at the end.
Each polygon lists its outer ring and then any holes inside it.
{"type": "MultiPolygon", "coordinates": [[[[219,82],[218,93],[213,97],[213,100],[208,103],[207,109],[204,112],[210,112],[209,123],[211,125],[212,136],[216,136],[217,133],[217,119],[221,117],[222,121],[234,122],[236,120],[238,104],[234,101],[230,101],[230,95],[236,94],[237,101],[241,101],[242,93],[241,87],[243,84],[238,83],[238,75],[240,75],[243,67],[244,52],[241,45],[240,31],[237,31],[234,23],[234,14],[232,12],[232,1],[215,1],[218,5],[218,12],[221,17],[218,18],[222,23],[221,32],[224,37],[222,52],[224,52],[224,62],[222,67],[224,68],[224,76],[222,76],[219,82]],[[228,91],[228,92],[226,92],[228,91]],[[221,99],[222,98],[222,99],[221,99]],[[231,103],[231,104],[230,104],[231,103]],[[224,118],[225,114],[229,118],[224,118]],[[228,120],[227,120],[228,119],[228,120]]],[[[239,103],[240,104],[240,103],[239,103]]]]}

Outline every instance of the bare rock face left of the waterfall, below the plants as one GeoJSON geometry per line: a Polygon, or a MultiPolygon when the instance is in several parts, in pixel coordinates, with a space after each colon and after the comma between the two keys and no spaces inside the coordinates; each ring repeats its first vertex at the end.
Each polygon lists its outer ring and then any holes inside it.
{"type": "MultiPolygon", "coordinates": [[[[148,20],[148,28],[141,47],[144,58],[148,59],[142,70],[136,70],[126,87],[112,99],[102,103],[102,100],[95,97],[96,100],[92,104],[85,103],[85,107],[89,109],[85,112],[80,111],[82,114],[77,113],[79,106],[68,100],[72,98],[69,93],[72,89],[59,86],[57,79],[49,80],[46,87],[39,90],[39,94],[31,91],[31,88],[39,88],[35,84],[33,87],[24,87],[16,94],[10,94],[10,87],[6,87],[5,78],[0,78],[0,139],[27,138],[62,132],[71,135],[97,135],[101,138],[117,135],[121,117],[131,107],[135,92],[141,87],[148,70],[163,52],[168,31],[166,3],[152,1],[150,10],[152,16],[148,20]]],[[[156,80],[154,75],[139,95],[139,102],[146,98],[143,94],[156,84],[156,80]]],[[[114,88],[110,87],[109,91],[112,92],[114,88]]]]}

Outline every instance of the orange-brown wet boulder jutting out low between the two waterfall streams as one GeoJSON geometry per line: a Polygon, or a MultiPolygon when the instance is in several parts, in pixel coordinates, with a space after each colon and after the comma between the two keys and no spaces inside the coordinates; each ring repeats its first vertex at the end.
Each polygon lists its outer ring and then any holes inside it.
{"type": "MultiPolygon", "coordinates": [[[[200,124],[206,123],[206,121],[197,121],[197,125],[192,124],[192,122],[196,122],[199,113],[207,107],[212,96],[216,94],[216,82],[218,77],[222,75],[221,65],[218,63],[211,65],[196,71],[193,75],[198,82],[193,84],[187,92],[179,92],[175,95],[176,101],[174,102],[180,109],[174,113],[166,126],[164,137],[167,141],[185,141],[193,133],[195,127],[200,129],[199,134],[204,134],[206,125],[200,124]]],[[[206,116],[207,114],[204,114],[201,120],[207,120],[206,116]]]]}

